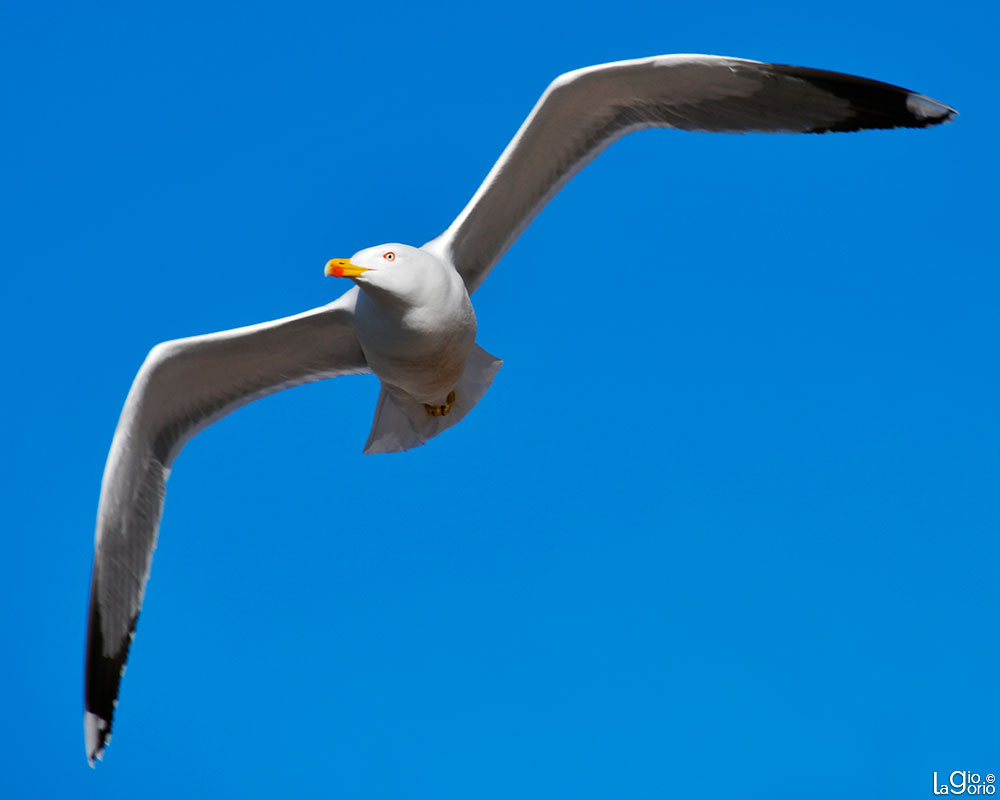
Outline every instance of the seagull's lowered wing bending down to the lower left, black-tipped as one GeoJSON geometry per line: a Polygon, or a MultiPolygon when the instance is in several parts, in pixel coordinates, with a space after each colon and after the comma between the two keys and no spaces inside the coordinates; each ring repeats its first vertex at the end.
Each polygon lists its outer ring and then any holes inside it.
{"type": "Polygon", "coordinates": [[[132,383],[101,484],[87,627],[84,733],[91,765],[111,735],[170,464],[185,442],[274,392],[368,372],[354,333],[357,289],[294,317],[154,347],[132,383]]]}

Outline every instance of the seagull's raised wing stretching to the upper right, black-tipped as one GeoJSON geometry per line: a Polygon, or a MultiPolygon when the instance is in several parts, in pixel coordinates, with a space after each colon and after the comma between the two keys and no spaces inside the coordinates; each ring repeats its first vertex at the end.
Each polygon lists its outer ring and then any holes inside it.
{"type": "Polygon", "coordinates": [[[556,78],[472,200],[425,247],[471,294],[539,211],[605,147],[643,128],[828,133],[925,128],[955,110],[880,81],[739,58],[670,55],[556,78]]]}

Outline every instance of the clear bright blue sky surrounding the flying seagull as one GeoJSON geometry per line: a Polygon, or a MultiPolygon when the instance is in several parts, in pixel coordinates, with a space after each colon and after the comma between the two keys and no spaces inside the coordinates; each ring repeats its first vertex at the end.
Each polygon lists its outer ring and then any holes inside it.
{"type": "Polygon", "coordinates": [[[0,794],[924,797],[1000,772],[997,12],[6,3],[0,794]],[[103,764],[98,489],[149,348],[420,244],[553,77],[708,52],[955,105],[931,131],[654,131],[475,296],[461,425],[365,457],[374,378],[195,439],[103,764]]]}

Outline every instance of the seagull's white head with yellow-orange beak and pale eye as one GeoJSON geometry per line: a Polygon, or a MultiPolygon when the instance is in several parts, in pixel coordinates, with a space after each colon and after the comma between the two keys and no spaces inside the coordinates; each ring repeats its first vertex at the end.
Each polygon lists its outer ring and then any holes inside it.
{"type": "Polygon", "coordinates": [[[398,243],[359,250],[350,258],[331,258],[326,264],[327,275],[350,278],[369,296],[390,295],[411,303],[439,290],[447,269],[426,250],[398,243]]]}

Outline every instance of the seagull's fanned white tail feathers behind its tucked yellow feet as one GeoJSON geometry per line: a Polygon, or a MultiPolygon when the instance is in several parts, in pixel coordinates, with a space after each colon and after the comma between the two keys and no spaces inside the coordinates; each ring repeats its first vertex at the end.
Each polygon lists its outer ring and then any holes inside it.
{"type": "Polygon", "coordinates": [[[419,447],[460,422],[486,394],[502,364],[479,345],[472,345],[465,371],[455,387],[455,402],[451,411],[440,417],[428,414],[423,403],[391,395],[383,386],[375,406],[372,430],[365,443],[365,454],[398,453],[419,447]]]}

